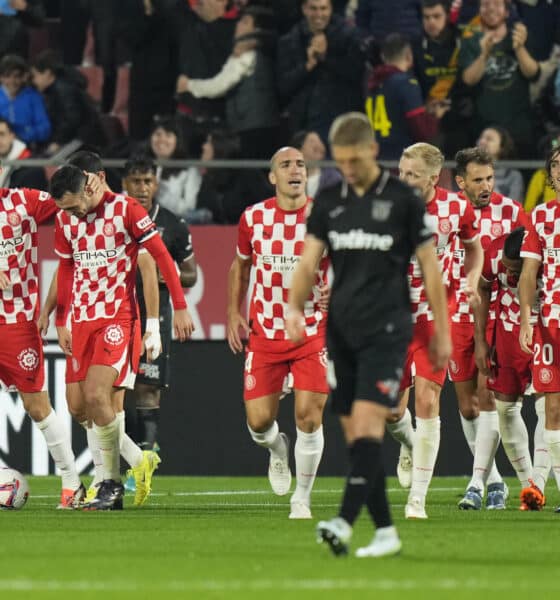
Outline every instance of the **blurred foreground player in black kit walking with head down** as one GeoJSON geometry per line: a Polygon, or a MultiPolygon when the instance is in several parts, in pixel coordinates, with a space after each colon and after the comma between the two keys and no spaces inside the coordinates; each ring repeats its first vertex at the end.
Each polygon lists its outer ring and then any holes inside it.
{"type": "Polygon", "coordinates": [[[292,279],[286,327],[293,341],[301,340],[302,309],[326,250],[334,269],[328,377],[332,407],[349,447],[350,473],[339,514],[319,522],[317,539],[336,555],[346,554],[354,521],[366,505],[376,533],[356,556],[388,556],[400,551],[401,541],[389,511],[381,445],[385,419],[397,407],[412,335],[407,269],[413,253],[434,314],[432,360],[440,368],[451,351],[447,301],[424,202],[379,167],[367,117],[341,115],[331,127],[329,142],[344,179],[315,200],[292,279]]]}

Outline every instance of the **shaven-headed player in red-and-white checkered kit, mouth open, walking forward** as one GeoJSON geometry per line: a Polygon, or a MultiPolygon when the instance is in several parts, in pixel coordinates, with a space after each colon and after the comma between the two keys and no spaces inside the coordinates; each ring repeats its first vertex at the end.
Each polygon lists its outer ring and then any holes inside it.
{"type": "Polygon", "coordinates": [[[323,453],[322,417],[327,400],[326,314],[319,302],[326,287],[326,262],[316,276],[305,309],[305,341],[294,344],[285,331],[292,274],[303,250],[311,200],[305,193],[303,155],[281,148],[272,157],[270,182],[276,196],[245,210],[239,221],[237,256],[229,276],[228,341],[243,350],[240,330],[248,335],[244,399],[247,426],[259,446],[270,451],[269,480],[278,495],[288,493],[289,444],[276,417],[284,379],[291,373],[297,439],[296,489],[290,518],[311,518],[311,489],[323,453]],[[241,315],[250,275],[254,275],[249,322],[241,315]]]}

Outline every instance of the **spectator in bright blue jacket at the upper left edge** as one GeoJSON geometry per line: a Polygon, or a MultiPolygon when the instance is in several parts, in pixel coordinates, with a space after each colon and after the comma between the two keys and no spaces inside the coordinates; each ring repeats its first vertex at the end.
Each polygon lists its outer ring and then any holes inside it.
{"type": "Polygon", "coordinates": [[[28,67],[19,56],[0,60],[0,117],[9,121],[20,140],[41,145],[49,140],[51,123],[41,94],[27,84],[28,67]]]}

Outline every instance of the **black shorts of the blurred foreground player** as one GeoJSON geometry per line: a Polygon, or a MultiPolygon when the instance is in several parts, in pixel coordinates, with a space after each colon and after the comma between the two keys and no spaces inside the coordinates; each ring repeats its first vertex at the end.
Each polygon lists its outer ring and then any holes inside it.
{"type": "Polygon", "coordinates": [[[361,341],[328,327],[332,411],[349,415],[354,400],[369,400],[395,409],[410,336],[408,325],[391,333],[380,331],[361,341]]]}

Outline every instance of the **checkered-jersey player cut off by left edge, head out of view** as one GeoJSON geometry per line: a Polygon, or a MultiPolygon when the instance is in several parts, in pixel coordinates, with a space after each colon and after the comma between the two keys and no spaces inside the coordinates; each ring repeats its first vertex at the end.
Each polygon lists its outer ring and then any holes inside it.
{"type": "MultiPolygon", "coordinates": [[[[0,168],[1,170],[1,168],[0,168]]],[[[38,316],[39,224],[57,207],[47,192],[0,189],[0,384],[16,388],[60,469],[60,508],[73,508],[85,491],[74,464],[69,432],[51,406],[45,382],[38,316]]]]}

